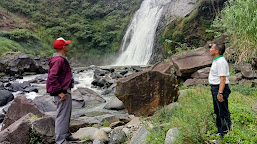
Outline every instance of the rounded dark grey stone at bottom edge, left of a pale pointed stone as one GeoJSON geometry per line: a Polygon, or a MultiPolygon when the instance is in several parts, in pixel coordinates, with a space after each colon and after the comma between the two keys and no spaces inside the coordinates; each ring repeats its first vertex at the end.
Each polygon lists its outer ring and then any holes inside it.
{"type": "Polygon", "coordinates": [[[126,139],[126,134],[121,129],[116,128],[110,136],[109,144],[125,143],[126,139]]]}

